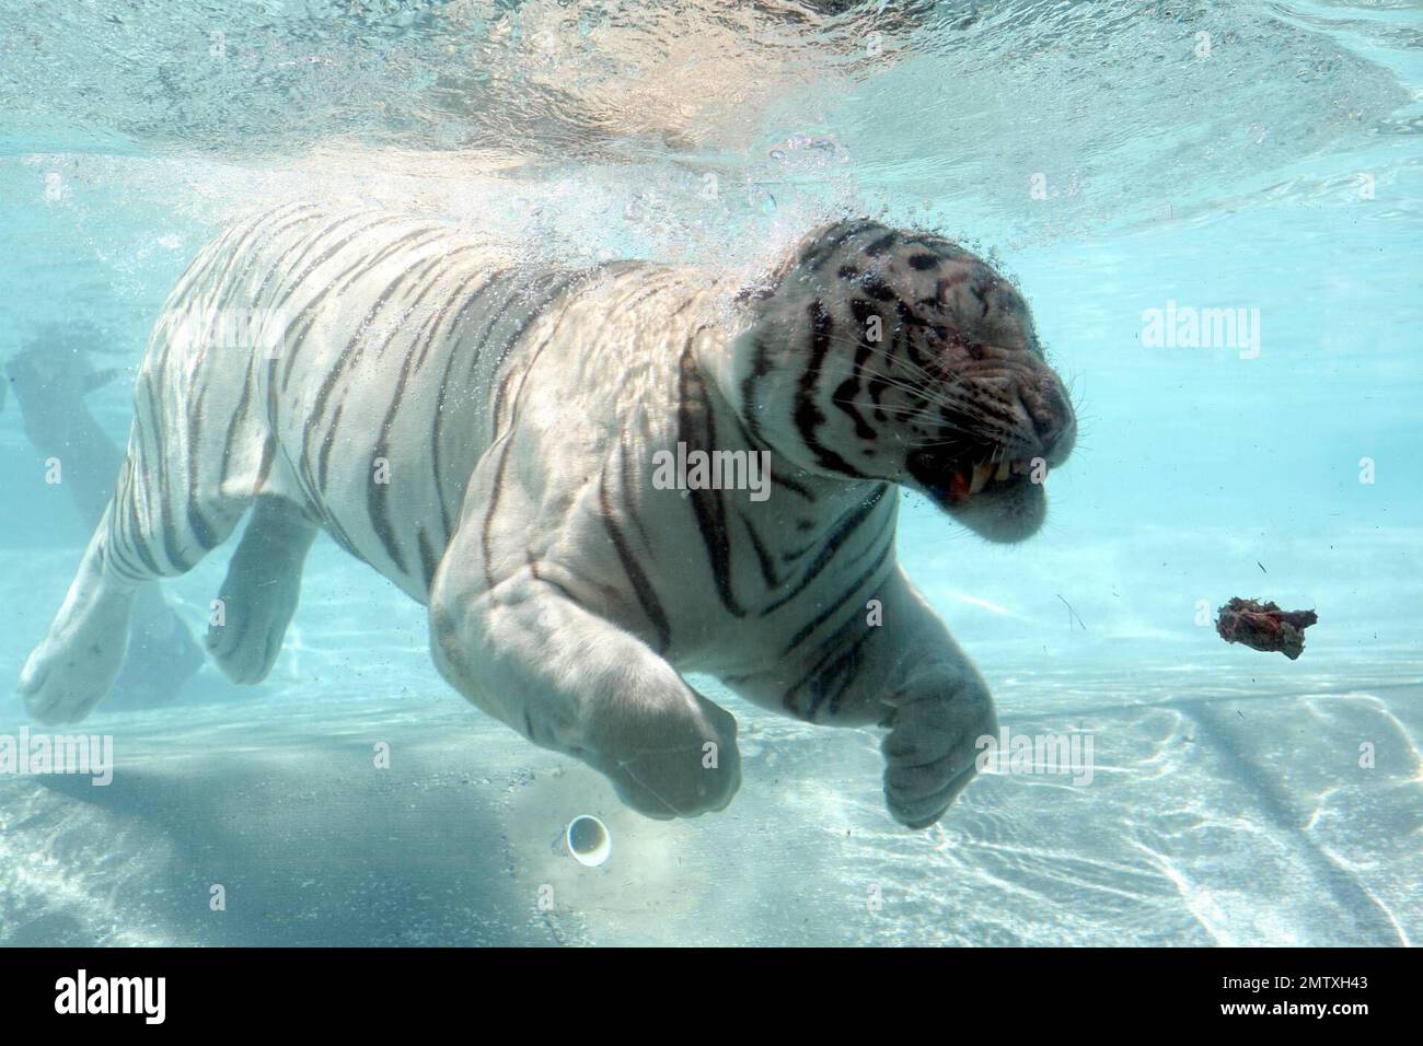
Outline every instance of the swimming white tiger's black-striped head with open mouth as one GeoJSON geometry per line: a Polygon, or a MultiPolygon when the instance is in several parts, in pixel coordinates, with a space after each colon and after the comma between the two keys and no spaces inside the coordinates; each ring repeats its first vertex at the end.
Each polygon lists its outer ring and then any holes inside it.
{"type": "Polygon", "coordinates": [[[1037,531],[1077,420],[1002,275],[858,221],[811,236],[770,286],[730,376],[756,438],[813,472],[922,491],[990,541],[1037,531]]]}

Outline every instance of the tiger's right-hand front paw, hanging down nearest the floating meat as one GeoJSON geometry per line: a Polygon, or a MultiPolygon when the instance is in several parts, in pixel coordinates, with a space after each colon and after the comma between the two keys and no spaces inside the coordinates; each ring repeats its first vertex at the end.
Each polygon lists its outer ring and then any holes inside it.
{"type": "Polygon", "coordinates": [[[928,828],[973,780],[978,739],[998,734],[993,699],[976,680],[887,699],[885,804],[908,828],[928,828]]]}

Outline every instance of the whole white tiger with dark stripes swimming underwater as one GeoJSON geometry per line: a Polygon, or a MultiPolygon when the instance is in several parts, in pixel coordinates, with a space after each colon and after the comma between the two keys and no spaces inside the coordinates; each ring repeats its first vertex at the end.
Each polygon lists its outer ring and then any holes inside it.
{"type": "Polygon", "coordinates": [[[889,811],[932,824],[996,719],[895,562],[896,484],[1022,539],[1073,408],[1017,292],[941,238],[834,225],[773,287],[511,265],[376,211],[231,228],[149,340],[114,498],[20,677],[31,714],[87,716],[139,586],[250,507],[208,635],[233,680],[270,670],[324,529],[430,608],[451,686],[650,817],[739,786],[736,722],[683,680],[704,672],[805,720],[888,727],[889,811]],[[231,346],[235,310],[287,322],[231,346]],[[657,453],[677,444],[764,453],[771,495],[667,490],[657,453]]]}

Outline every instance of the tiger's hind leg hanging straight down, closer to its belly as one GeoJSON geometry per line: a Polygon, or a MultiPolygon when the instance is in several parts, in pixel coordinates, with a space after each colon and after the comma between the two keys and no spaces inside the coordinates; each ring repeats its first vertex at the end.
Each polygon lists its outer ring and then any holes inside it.
{"type": "Polygon", "coordinates": [[[316,534],[316,524],[292,501],[258,498],[208,626],[208,653],[233,683],[260,683],[272,672],[316,534]]]}

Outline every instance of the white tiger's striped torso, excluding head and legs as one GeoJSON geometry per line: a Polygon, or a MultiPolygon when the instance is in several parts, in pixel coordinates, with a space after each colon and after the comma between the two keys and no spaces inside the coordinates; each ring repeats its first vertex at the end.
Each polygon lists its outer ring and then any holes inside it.
{"type": "Polygon", "coordinates": [[[186,501],[174,491],[159,529],[182,541],[175,521],[203,505],[282,498],[427,603],[468,527],[464,582],[532,572],[679,665],[767,670],[815,649],[892,569],[898,500],[784,467],[766,501],[659,484],[679,448],[763,453],[700,366],[729,337],[713,283],[519,265],[381,211],[235,226],[175,287],[145,359],[138,410],[157,416],[135,431],[192,435],[186,501]]]}

